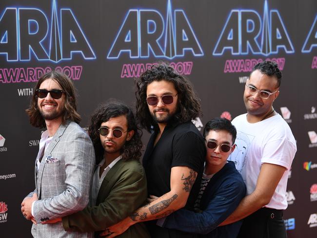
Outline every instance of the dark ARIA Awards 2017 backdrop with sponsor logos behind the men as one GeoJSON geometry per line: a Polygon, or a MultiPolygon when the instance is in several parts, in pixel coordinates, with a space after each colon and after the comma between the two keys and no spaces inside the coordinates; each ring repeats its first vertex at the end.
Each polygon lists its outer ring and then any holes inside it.
{"type": "MultiPolygon", "coordinates": [[[[297,139],[289,171],[289,238],[317,234],[316,0],[1,0],[0,236],[31,237],[20,202],[34,189],[42,130],[25,114],[39,77],[53,68],[74,80],[81,126],[109,98],[134,107],[134,78],[169,62],[194,84],[214,117],[245,113],[244,85],[259,61],[283,78],[275,110],[297,139]]],[[[149,135],[144,133],[143,141],[149,135]]]]}

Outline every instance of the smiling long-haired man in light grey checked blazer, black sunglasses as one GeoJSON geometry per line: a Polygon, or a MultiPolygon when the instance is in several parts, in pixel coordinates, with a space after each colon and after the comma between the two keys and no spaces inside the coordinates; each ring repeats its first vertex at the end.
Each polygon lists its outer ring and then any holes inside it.
{"type": "Polygon", "coordinates": [[[78,125],[73,82],[52,71],[43,75],[26,110],[31,125],[46,127],[35,162],[35,190],[21,203],[32,220],[35,238],[89,238],[92,233],[65,232],[61,223],[42,221],[82,210],[89,201],[95,153],[91,139],[78,125]]]}

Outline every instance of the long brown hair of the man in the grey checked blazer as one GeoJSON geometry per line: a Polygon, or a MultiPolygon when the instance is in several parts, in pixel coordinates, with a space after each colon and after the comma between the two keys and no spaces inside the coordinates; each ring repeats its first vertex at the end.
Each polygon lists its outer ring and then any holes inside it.
{"type": "Polygon", "coordinates": [[[25,110],[26,114],[30,118],[30,124],[39,128],[46,127],[45,120],[40,114],[40,110],[38,108],[38,96],[35,95],[35,90],[40,88],[41,83],[46,79],[53,79],[56,81],[61,87],[62,91],[65,93],[65,110],[64,115],[62,116],[62,123],[68,119],[79,123],[81,118],[77,113],[76,94],[73,81],[61,72],[53,70],[40,77],[33,90],[30,107],[25,110]]]}

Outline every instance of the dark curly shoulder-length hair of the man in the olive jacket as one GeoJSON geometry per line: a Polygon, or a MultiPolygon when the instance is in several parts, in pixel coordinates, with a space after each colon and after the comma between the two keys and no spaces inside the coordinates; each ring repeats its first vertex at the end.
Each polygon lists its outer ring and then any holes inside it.
{"type": "Polygon", "coordinates": [[[89,135],[93,141],[96,152],[96,163],[103,159],[104,149],[100,142],[99,131],[101,123],[107,122],[110,118],[126,116],[128,121],[128,131],[134,131],[133,137],[126,141],[121,148],[122,159],[139,159],[141,157],[141,135],[142,132],[138,128],[134,114],[127,105],[119,101],[111,100],[105,104],[99,105],[94,114],[91,116],[91,124],[89,126],[89,135]]]}

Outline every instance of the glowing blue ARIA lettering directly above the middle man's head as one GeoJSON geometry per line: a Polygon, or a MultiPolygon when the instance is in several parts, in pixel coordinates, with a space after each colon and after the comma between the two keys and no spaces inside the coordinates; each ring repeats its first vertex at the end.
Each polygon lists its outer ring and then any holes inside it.
{"type": "Polygon", "coordinates": [[[172,9],[167,2],[164,17],[157,9],[130,9],[112,43],[107,59],[128,55],[130,59],[173,59],[185,53],[203,56],[203,51],[189,19],[182,9],[172,9]]]}

